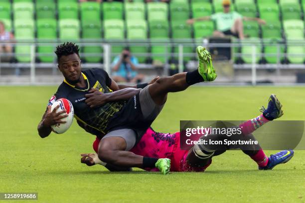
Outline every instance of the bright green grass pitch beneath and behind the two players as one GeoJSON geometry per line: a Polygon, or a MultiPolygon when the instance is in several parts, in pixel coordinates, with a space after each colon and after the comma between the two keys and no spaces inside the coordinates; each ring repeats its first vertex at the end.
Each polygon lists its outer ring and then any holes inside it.
{"type": "MultiPolygon", "coordinates": [[[[38,192],[39,200],[33,202],[42,203],[305,202],[305,151],[296,151],[288,164],[272,171],[258,171],[241,151],[215,157],[204,173],[163,176],[87,167],[80,163],[80,153],[93,151],[94,136],[75,122],[65,134],[52,133],[45,139],[37,134],[55,91],[56,87],[0,87],[0,192],[38,192]]],[[[251,119],[272,93],[283,104],[282,120],[305,119],[302,87],[193,87],[170,94],[152,126],[174,132],[179,120],[251,119]]]]}

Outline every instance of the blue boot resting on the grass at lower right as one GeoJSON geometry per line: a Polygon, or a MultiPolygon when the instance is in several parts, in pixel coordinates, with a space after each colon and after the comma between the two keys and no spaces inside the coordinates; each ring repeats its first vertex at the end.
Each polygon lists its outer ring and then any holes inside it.
{"type": "Polygon", "coordinates": [[[293,150],[284,150],[268,157],[268,164],[265,167],[260,167],[259,170],[271,170],[278,164],[285,164],[294,156],[293,150]]]}

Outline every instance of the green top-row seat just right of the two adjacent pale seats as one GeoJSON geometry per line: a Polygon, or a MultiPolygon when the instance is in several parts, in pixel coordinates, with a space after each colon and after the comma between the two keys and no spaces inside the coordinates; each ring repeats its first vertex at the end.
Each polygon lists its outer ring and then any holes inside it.
{"type": "Polygon", "coordinates": [[[170,19],[171,21],[183,22],[189,18],[189,6],[185,3],[171,2],[170,8],[170,19]]]}

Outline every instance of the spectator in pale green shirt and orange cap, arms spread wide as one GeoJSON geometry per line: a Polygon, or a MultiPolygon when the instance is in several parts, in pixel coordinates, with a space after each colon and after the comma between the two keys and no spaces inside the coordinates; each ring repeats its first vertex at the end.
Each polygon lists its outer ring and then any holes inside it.
{"type": "Polygon", "coordinates": [[[198,18],[188,19],[186,22],[192,24],[200,20],[214,20],[216,22],[216,30],[213,33],[214,37],[225,37],[225,35],[232,35],[240,39],[244,39],[243,20],[253,20],[260,24],[266,24],[265,20],[258,17],[245,17],[236,11],[231,11],[231,1],[222,1],[223,12],[217,12],[211,16],[203,16],[198,18]]]}

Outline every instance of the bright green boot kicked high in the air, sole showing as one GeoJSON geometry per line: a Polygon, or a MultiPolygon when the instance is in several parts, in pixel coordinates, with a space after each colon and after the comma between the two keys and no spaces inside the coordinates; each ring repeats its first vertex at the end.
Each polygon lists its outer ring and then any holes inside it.
{"type": "Polygon", "coordinates": [[[196,51],[199,58],[199,74],[202,76],[204,81],[214,81],[217,77],[217,74],[215,73],[212,64],[212,57],[210,52],[208,52],[208,50],[202,46],[198,46],[196,51]]]}

